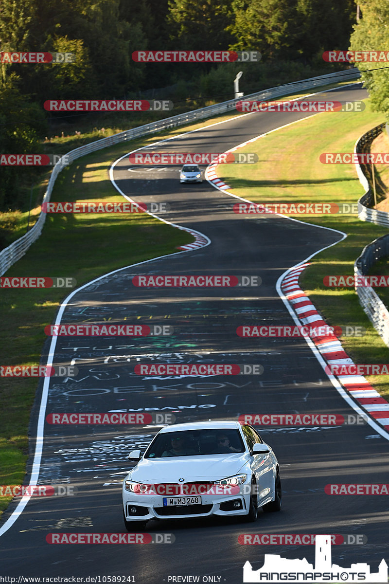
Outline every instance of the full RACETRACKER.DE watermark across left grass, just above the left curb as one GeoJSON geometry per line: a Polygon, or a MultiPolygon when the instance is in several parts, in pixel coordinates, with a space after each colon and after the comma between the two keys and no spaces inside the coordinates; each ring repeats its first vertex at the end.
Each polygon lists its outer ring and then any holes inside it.
{"type": "Polygon", "coordinates": [[[140,214],[140,213],[167,213],[169,203],[141,203],[130,201],[89,201],[77,202],[62,201],[61,203],[42,203],[42,213],[91,213],[91,214],[140,214]]]}

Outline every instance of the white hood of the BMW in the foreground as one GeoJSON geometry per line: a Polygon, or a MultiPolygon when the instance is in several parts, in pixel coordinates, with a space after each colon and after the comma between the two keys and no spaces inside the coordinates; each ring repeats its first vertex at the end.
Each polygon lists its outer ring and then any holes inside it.
{"type": "Polygon", "coordinates": [[[213,454],[212,456],[185,456],[177,458],[145,458],[129,473],[136,482],[218,481],[238,474],[248,461],[245,453],[213,454]]]}

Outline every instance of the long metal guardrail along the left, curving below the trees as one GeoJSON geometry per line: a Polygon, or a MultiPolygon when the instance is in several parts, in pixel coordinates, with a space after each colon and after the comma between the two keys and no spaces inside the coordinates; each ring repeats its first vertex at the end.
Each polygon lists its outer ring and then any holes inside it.
{"type": "MultiPolygon", "coordinates": [[[[311,77],[309,79],[303,79],[302,81],[296,81],[295,83],[289,83],[286,85],[280,85],[278,87],[266,89],[265,91],[258,93],[251,93],[250,95],[245,95],[244,99],[274,99],[289,93],[296,93],[299,91],[305,91],[306,89],[314,89],[322,85],[327,85],[332,81],[352,81],[353,79],[358,79],[359,77],[360,72],[358,69],[346,69],[346,71],[338,71],[329,75],[311,77]]],[[[67,152],[66,156],[68,157],[69,164],[71,164],[77,158],[85,156],[86,154],[90,154],[90,152],[96,152],[97,150],[101,150],[113,144],[118,144],[119,142],[133,140],[139,136],[153,134],[157,131],[167,130],[176,126],[185,126],[197,120],[206,119],[207,117],[212,117],[220,113],[229,112],[230,110],[234,109],[236,102],[241,99],[242,98],[230,99],[226,102],[217,103],[208,107],[202,107],[201,109],[193,110],[192,112],[179,114],[178,116],[168,117],[160,121],[145,124],[144,126],[132,128],[132,130],[126,130],[124,132],[114,134],[108,138],[101,138],[101,140],[90,142],[90,144],[80,146],[79,148],[75,148],[75,150],[67,152]]],[[[55,180],[57,179],[59,172],[61,172],[65,166],[67,165],[63,164],[62,161],[59,161],[52,169],[47,190],[43,197],[43,203],[48,203],[48,201],[50,201],[50,196],[55,180]]],[[[30,245],[33,244],[36,239],[38,239],[41,234],[45,218],[45,213],[41,213],[36,224],[29,232],[23,235],[23,237],[16,239],[16,241],[0,252],[0,276],[2,276],[2,274],[13,265],[13,263],[22,258],[27,249],[29,249],[30,245]]]]}

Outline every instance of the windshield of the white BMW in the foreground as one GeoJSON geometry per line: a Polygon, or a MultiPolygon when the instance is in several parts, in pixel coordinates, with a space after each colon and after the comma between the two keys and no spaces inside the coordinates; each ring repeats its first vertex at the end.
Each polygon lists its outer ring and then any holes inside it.
{"type": "Polygon", "coordinates": [[[187,430],[157,434],[145,458],[201,456],[243,453],[245,447],[237,429],[187,430]]]}

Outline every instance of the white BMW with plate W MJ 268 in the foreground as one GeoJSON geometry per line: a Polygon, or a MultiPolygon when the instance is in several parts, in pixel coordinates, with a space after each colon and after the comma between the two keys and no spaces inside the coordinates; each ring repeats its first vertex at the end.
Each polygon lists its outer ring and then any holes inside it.
{"type": "Polygon", "coordinates": [[[195,422],[166,426],[123,481],[128,531],[150,519],[241,515],[281,509],[277,458],[249,425],[195,422]]]}

